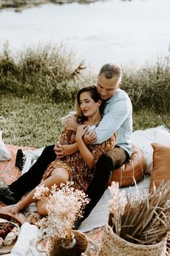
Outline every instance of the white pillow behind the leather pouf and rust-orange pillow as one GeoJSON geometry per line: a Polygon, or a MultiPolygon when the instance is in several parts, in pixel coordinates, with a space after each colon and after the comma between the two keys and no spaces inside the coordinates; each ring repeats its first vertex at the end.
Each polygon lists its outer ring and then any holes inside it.
{"type": "Polygon", "coordinates": [[[156,142],[165,146],[170,146],[170,132],[164,125],[156,128],[148,128],[144,131],[138,130],[132,133],[132,144],[143,149],[146,160],[146,173],[153,170],[153,147],[151,143],[156,142]]]}

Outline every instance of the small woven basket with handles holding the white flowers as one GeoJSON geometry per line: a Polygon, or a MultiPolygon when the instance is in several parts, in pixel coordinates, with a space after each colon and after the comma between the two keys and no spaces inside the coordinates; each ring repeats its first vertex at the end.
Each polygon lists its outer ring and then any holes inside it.
{"type": "Polygon", "coordinates": [[[75,246],[66,249],[62,246],[61,239],[54,236],[46,242],[45,247],[39,247],[41,241],[45,240],[43,237],[38,240],[36,248],[38,252],[46,252],[47,256],[90,256],[91,245],[95,250],[95,254],[98,255],[97,245],[90,239],[88,239],[85,234],[80,231],[72,231],[75,236],[75,246]]]}

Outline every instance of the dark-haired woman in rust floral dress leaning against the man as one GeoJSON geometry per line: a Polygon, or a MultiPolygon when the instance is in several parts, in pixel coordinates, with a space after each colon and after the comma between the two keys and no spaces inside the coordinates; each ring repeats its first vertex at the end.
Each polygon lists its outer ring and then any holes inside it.
{"type": "MultiPolygon", "coordinates": [[[[100,123],[102,118],[100,112],[101,102],[95,86],[88,86],[78,91],[76,97],[77,114],[75,117],[80,125],[77,128],[77,132],[64,130],[60,139],[62,145],[67,145],[68,151],[69,144],[76,144],[77,152],[72,154],[72,151],[70,151],[70,154],[62,158],[62,160],[56,159],[51,162],[43,175],[41,185],[44,184],[50,189],[54,183],[56,183],[56,186],[60,186],[61,183],[74,181],[76,189],[86,191],[93,178],[95,164],[99,157],[111,150],[115,145],[115,134],[111,139],[98,145],[86,145],[82,139],[90,125],[98,125],[100,123]]],[[[35,189],[30,191],[16,205],[4,207],[4,210],[12,211],[13,213],[20,212],[27,205],[35,202],[35,199],[33,199],[34,193],[35,189]]],[[[39,214],[47,215],[46,202],[38,200],[37,207],[39,214]]]]}

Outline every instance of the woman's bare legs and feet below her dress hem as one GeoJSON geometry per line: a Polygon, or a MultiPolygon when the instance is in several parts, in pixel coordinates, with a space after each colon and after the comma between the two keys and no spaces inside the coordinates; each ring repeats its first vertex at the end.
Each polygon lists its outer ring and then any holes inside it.
{"type": "MultiPolygon", "coordinates": [[[[48,189],[51,189],[51,186],[56,184],[56,186],[60,186],[61,183],[66,183],[69,181],[69,173],[65,168],[56,168],[51,172],[51,176],[46,178],[45,181],[41,182],[39,186],[44,185],[47,186],[48,189]]],[[[20,210],[23,210],[27,205],[30,205],[33,202],[38,201],[37,199],[33,199],[33,196],[35,194],[36,189],[33,189],[30,191],[29,194],[27,194],[26,197],[24,197],[20,202],[17,202],[16,205],[12,206],[7,206],[4,207],[3,212],[5,211],[5,208],[7,209],[7,212],[11,211],[13,213],[20,212],[20,210]]],[[[38,212],[44,213],[42,215],[45,215],[46,212],[46,204],[41,203],[42,200],[39,200],[40,202],[38,203],[38,212]]]]}

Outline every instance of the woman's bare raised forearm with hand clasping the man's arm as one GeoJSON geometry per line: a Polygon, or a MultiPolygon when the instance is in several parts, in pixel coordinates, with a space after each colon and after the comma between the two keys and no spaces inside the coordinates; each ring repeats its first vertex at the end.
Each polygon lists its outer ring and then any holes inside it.
{"type": "Polygon", "coordinates": [[[86,164],[88,165],[88,168],[92,169],[94,168],[94,165],[95,165],[94,157],[82,139],[82,136],[85,134],[87,130],[88,130],[87,125],[80,125],[77,128],[76,141],[77,141],[77,146],[82,156],[82,159],[86,162],[86,164]]]}

